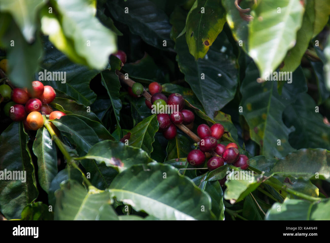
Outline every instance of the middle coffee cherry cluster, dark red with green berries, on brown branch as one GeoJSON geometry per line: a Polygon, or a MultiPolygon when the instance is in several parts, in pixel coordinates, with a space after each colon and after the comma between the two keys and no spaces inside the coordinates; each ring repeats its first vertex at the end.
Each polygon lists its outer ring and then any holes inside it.
{"type": "MultiPolygon", "coordinates": [[[[157,114],[157,121],[159,124],[158,132],[162,132],[163,136],[168,139],[174,139],[177,136],[176,125],[184,124],[189,129],[193,127],[193,121],[195,115],[191,110],[184,108],[184,98],[181,94],[173,93],[166,97],[162,94],[162,86],[157,82],[152,82],[149,84],[149,92],[152,95],[150,101],[145,100],[146,105],[151,110],[152,104],[156,107],[161,107],[161,105],[173,105],[172,107],[178,107],[179,110],[171,114],[159,113],[157,114]],[[178,106],[176,106],[178,105],[178,106]]],[[[128,93],[133,97],[139,97],[144,92],[144,87],[140,83],[134,83],[132,88],[128,87],[128,93]]],[[[165,106],[164,106],[165,107],[165,106]]]]}

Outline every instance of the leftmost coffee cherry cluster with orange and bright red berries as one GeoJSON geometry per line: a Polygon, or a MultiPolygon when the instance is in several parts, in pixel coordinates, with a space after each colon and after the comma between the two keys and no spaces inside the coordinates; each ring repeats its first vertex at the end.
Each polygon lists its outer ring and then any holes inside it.
{"type": "Polygon", "coordinates": [[[26,130],[41,128],[44,125],[42,114],[49,115],[50,120],[59,119],[65,115],[61,111],[53,111],[48,105],[55,99],[56,92],[51,86],[44,86],[39,81],[32,82],[32,90],[27,88],[11,90],[10,86],[6,84],[1,85],[0,90],[6,90],[5,98],[12,100],[4,106],[5,115],[13,121],[22,121],[26,130]]]}

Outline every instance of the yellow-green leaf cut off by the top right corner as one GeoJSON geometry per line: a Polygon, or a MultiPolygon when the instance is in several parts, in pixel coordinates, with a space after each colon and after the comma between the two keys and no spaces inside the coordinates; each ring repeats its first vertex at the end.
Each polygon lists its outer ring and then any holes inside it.
{"type": "Polygon", "coordinates": [[[321,32],[326,23],[329,20],[330,4],[323,0],[315,1],[315,21],[314,21],[314,33],[313,38],[321,32]]]}

